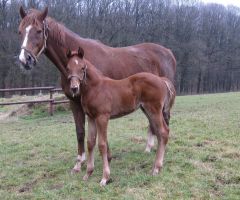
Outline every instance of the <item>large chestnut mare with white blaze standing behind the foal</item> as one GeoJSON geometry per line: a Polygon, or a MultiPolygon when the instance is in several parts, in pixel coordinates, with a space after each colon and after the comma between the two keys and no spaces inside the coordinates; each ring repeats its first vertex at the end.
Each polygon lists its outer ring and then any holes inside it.
{"type": "MultiPolygon", "coordinates": [[[[67,49],[77,49],[81,46],[85,58],[99,69],[105,76],[122,79],[138,72],[150,72],[165,76],[172,82],[176,72],[176,61],[169,49],[153,43],[143,43],[129,47],[112,48],[96,40],[84,39],[71,32],[54,19],[47,17],[48,9],[38,11],[30,9],[27,13],[20,8],[21,22],[19,34],[22,38],[19,61],[30,70],[37,63],[41,53],[55,64],[61,72],[61,86],[70,99],[76,125],[78,156],[73,171],[81,169],[85,160],[84,137],[85,115],[80,104],[80,96],[72,96],[67,79],[66,57],[67,49]]],[[[146,151],[153,145],[153,136],[149,129],[146,151]]]]}

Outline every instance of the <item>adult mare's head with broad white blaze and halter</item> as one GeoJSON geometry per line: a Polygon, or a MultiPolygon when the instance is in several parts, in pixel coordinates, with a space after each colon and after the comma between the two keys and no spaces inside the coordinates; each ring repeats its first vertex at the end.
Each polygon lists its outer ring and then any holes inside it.
{"type": "Polygon", "coordinates": [[[22,46],[19,61],[26,70],[30,70],[36,65],[38,56],[46,48],[47,24],[45,18],[47,13],[47,7],[42,12],[30,10],[28,14],[20,7],[22,20],[18,29],[22,46]]]}

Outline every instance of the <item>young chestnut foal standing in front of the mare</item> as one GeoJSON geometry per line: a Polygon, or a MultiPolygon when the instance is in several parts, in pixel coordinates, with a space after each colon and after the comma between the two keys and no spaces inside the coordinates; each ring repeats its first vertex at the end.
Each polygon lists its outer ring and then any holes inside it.
{"type": "Polygon", "coordinates": [[[152,174],[158,174],[163,166],[169,135],[170,109],[175,99],[172,83],[167,78],[145,72],[122,80],[113,80],[103,76],[84,59],[81,48],[77,52],[68,51],[67,56],[71,91],[73,95],[81,95],[84,112],[88,115],[89,155],[87,173],[83,180],[87,180],[94,170],[93,150],[98,134],[98,147],[103,159],[103,177],[100,185],[107,184],[110,178],[110,155],[107,150],[108,121],[110,118],[124,116],[138,108],[143,110],[150,122],[151,131],[157,137],[158,148],[152,174]]]}

